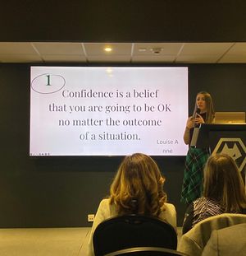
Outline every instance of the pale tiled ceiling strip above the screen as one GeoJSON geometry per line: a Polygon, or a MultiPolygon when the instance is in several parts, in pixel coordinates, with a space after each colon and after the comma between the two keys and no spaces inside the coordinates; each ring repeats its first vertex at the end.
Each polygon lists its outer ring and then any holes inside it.
{"type": "Polygon", "coordinates": [[[0,42],[0,62],[246,63],[246,43],[0,42]]]}

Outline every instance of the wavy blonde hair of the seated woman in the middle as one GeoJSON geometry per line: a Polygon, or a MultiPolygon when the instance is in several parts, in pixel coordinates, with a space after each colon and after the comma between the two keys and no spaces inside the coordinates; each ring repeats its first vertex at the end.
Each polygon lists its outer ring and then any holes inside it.
{"type": "Polygon", "coordinates": [[[125,156],[110,188],[111,203],[122,214],[158,216],[165,210],[165,178],[150,156],[135,153],[125,156]]]}

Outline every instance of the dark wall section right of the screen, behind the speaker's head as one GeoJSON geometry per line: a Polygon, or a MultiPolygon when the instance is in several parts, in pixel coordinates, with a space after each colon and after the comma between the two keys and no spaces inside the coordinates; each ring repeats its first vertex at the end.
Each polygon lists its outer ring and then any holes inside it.
{"type": "Polygon", "coordinates": [[[245,67],[245,64],[190,66],[189,98],[193,100],[191,101],[193,104],[189,107],[194,107],[195,95],[198,91],[208,91],[212,95],[216,111],[246,111],[245,67]]]}

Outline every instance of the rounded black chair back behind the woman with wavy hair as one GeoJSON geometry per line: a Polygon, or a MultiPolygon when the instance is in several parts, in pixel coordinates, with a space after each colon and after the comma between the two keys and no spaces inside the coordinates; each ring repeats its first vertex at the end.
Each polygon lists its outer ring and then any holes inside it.
{"type": "Polygon", "coordinates": [[[155,217],[126,215],[101,222],[93,233],[93,249],[96,256],[146,246],[176,249],[175,229],[155,217]]]}

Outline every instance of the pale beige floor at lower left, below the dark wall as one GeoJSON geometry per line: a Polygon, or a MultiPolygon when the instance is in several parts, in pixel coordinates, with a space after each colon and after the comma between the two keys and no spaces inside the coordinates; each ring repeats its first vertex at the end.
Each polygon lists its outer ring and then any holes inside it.
{"type": "MultiPolygon", "coordinates": [[[[181,228],[178,228],[180,239],[181,228]]],[[[84,256],[90,227],[0,229],[1,256],[84,256]]]]}

